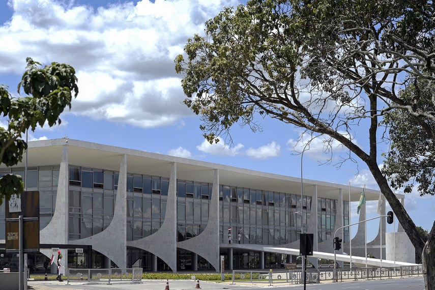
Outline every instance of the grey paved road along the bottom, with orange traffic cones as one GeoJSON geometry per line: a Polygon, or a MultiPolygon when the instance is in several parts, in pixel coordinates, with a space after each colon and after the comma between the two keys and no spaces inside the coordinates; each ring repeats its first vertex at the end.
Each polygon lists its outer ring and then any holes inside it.
{"type": "MultiPolygon", "coordinates": [[[[301,290],[303,285],[285,285],[285,286],[269,286],[268,284],[253,285],[248,283],[240,283],[237,285],[231,285],[231,282],[215,283],[200,281],[201,289],[205,290],[258,290],[259,288],[276,288],[276,289],[289,289],[301,290]]],[[[107,284],[87,284],[87,283],[70,283],[57,282],[57,281],[29,281],[28,285],[31,289],[35,290],[164,290],[166,281],[147,280],[141,284],[119,284],[112,283],[107,284]]],[[[171,280],[169,281],[170,290],[190,290],[195,288],[196,283],[188,280],[171,280]]],[[[356,289],[356,290],[400,290],[400,289],[416,289],[424,290],[423,277],[405,277],[397,279],[382,279],[382,280],[360,280],[350,282],[338,282],[338,283],[325,283],[325,284],[307,284],[307,290],[336,290],[336,289],[356,289]]]]}

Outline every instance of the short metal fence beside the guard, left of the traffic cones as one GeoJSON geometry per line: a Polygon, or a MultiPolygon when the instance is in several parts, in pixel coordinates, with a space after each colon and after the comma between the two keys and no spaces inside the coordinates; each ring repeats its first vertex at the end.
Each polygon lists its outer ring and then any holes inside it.
{"type": "Polygon", "coordinates": [[[68,280],[70,282],[120,282],[129,281],[140,283],[142,281],[142,268],[131,269],[68,269],[68,280]]]}

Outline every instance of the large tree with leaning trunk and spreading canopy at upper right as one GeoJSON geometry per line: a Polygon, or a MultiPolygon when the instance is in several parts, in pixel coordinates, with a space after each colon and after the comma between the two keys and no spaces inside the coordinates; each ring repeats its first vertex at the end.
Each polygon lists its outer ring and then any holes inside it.
{"type": "MultiPolygon", "coordinates": [[[[341,142],[348,159],[365,162],[423,252],[425,243],[378,166],[378,144],[388,141],[380,122],[394,110],[407,111],[435,140],[435,113],[398,93],[415,80],[435,79],[433,9],[426,0],[252,0],[226,8],[206,22],[206,37],[195,35],[185,56],[176,57],[184,102],[201,115],[210,142],[236,123],[255,129],[258,114],[323,135],[329,146],[341,142]],[[361,135],[362,125],[368,130],[361,135]],[[357,137],[368,140],[368,149],[357,137]]],[[[433,266],[425,282],[435,288],[433,266]]]]}

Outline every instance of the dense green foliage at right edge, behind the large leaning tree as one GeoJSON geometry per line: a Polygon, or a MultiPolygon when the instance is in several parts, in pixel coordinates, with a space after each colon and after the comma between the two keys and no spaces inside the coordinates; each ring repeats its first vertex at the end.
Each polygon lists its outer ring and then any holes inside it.
{"type": "MultiPolygon", "coordinates": [[[[400,98],[413,102],[416,110],[435,111],[432,96],[435,96],[435,84],[428,80],[415,80],[402,90],[400,98]]],[[[407,110],[394,109],[385,115],[383,122],[388,127],[390,150],[384,153],[385,162],[382,171],[389,177],[394,189],[404,188],[411,192],[418,184],[418,192],[435,194],[435,143],[414,120],[407,110]],[[410,150],[412,148],[412,150],[410,150]]],[[[425,120],[432,128],[435,122],[425,120]]]]}

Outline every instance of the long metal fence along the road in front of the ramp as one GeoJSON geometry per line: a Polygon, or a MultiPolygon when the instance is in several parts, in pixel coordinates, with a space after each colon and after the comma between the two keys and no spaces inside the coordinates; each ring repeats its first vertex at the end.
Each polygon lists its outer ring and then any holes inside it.
{"type": "MultiPolygon", "coordinates": [[[[307,283],[321,283],[322,281],[343,281],[358,279],[382,279],[404,276],[423,275],[422,266],[401,266],[391,268],[358,268],[358,269],[326,269],[307,270],[307,283]],[[335,274],[334,274],[335,273],[335,274]]],[[[247,283],[303,283],[301,270],[288,271],[233,271],[234,282],[247,283]]]]}

